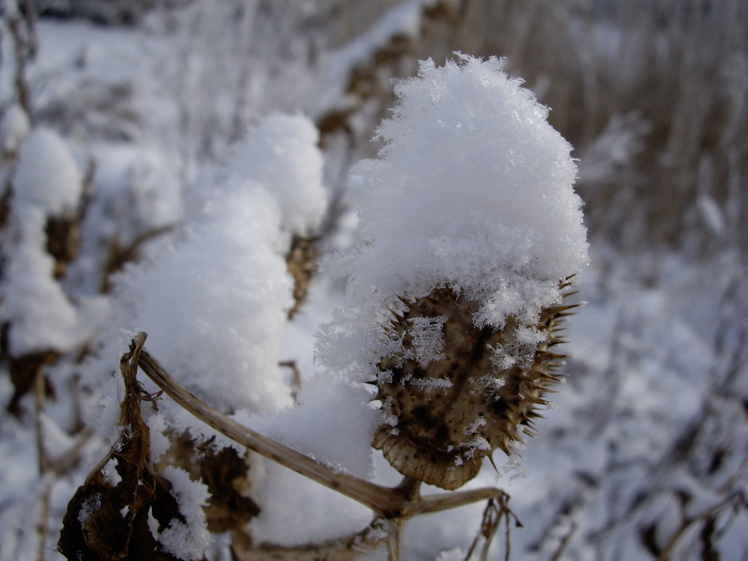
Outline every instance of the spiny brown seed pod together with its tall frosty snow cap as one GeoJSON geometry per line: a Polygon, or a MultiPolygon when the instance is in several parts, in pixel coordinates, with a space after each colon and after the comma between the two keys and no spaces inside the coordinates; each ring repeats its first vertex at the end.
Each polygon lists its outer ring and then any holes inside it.
{"type": "Polygon", "coordinates": [[[459,55],[396,86],[384,147],[358,165],[364,242],[331,263],[346,312],[318,346],[375,379],[390,464],[447,489],[497,448],[516,463],[557,380],[562,291],[587,260],[571,146],[502,69],[459,55]]]}

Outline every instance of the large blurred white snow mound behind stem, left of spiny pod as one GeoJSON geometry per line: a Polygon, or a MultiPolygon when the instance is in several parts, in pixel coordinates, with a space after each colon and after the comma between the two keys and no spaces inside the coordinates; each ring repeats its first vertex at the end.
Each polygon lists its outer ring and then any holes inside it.
{"type": "MultiPolygon", "coordinates": [[[[325,212],[318,140],[306,117],[267,117],[207,194],[194,186],[189,226],[115,278],[116,316],[91,375],[121,352],[115,333],[146,331],[150,352],[212,407],[267,413],[290,404],[278,365],[292,305],[285,253],[289,234],[312,233],[325,212]]],[[[190,417],[177,411],[170,422],[177,418],[190,417]]],[[[191,429],[199,434],[200,423],[191,429]]]]}

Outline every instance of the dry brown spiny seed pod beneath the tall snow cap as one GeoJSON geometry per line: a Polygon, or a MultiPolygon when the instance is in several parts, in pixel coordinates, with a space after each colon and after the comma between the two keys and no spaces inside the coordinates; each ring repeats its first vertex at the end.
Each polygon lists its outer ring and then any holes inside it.
{"type": "Polygon", "coordinates": [[[405,352],[381,359],[377,384],[377,398],[397,423],[379,427],[374,447],[400,473],[456,489],[476,476],[484,456],[497,448],[510,455],[523,434],[533,434],[536,407],[546,405],[544,394],[559,379],[564,355],[551,349],[562,342],[554,331],[570,306],[544,308],[534,351],[512,364],[503,351],[527,345],[514,318],[502,329],[476,327],[477,304],[450,288],[402,302],[405,310],[393,313],[387,330],[405,352]],[[443,344],[423,364],[423,353],[411,351],[429,319],[441,325],[443,344]]]}

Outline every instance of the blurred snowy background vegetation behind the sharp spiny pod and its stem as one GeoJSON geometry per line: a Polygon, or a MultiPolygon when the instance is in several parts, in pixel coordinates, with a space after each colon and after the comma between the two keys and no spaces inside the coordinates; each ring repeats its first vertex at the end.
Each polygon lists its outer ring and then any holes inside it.
{"type": "MultiPolygon", "coordinates": [[[[349,171],[381,147],[370,139],[391,79],[455,51],[507,57],[551,108],[580,159],[591,256],[567,382],[527,442],[527,474],[486,465],[469,485],[511,495],[524,524],[515,560],[748,560],[746,2],[0,9],[0,560],[63,559],[67,502],[117,438],[123,329],[148,331],[154,355],[224,412],[292,438],[292,418],[274,429],[279,408],[337,407],[337,420],[298,427],[299,446],[338,450],[341,465],[368,448],[344,434],[356,415],[346,396],[304,392],[317,325],[343,297],[313,270],[355,242],[349,171]]],[[[152,431],[200,432],[170,407],[152,431]]],[[[380,456],[373,478],[394,484],[380,456]]],[[[369,521],[260,460],[249,480],[257,544],[369,521]]],[[[403,558],[462,559],[481,515],[415,519],[403,558]]],[[[209,559],[230,559],[228,532],[216,533],[209,559]]]]}

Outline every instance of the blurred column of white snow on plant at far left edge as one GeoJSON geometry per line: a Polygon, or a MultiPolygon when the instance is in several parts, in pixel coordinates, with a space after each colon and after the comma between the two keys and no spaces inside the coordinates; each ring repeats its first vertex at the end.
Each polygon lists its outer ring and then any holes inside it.
{"type": "Polygon", "coordinates": [[[32,130],[20,144],[11,186],[0,286],[0,320],[10,324],[10,353],[70,352],[108,315],[104,298],[74,302],[65,294],[52,278],[55,263],[46,252],[47,220],[75,212],[82,193],[70,147],[52,129],[32,130]]]}

